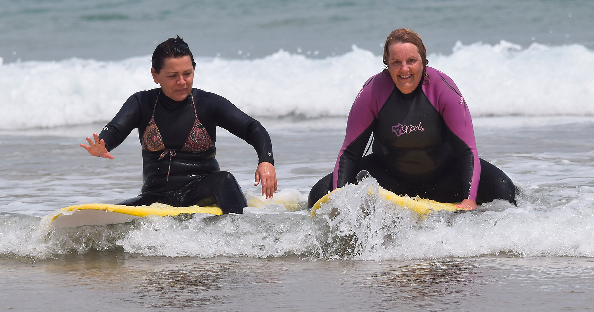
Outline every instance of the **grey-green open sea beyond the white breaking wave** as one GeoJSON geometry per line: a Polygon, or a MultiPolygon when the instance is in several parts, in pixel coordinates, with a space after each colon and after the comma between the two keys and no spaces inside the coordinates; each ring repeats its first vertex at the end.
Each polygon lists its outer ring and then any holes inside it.
{"type": "Polygon", "coordinates": [[[176,34],[195,56],[254,59],[284,49],[326,58],[353,44],[379,55],[399,27],[421,34],[429,53],[450,54],[458,40],[592,47],[593,12],[589,0],[2,0],[0,57],[116,61],[150,55],[176,34]]]}

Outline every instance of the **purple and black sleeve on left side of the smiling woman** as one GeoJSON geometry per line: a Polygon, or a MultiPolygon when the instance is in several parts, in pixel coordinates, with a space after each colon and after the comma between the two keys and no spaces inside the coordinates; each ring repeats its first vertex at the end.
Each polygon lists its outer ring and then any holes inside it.
{"type": "Polygon", "coordinates": [[[345,140],[334,165],[332,189],[354,183],[359,162],[365,152],[369,135],[377,119],[377,97],[373,93],[372,81],[369,79],[359,91],[353,107],[350,109],[346,124],[345,140]]]}

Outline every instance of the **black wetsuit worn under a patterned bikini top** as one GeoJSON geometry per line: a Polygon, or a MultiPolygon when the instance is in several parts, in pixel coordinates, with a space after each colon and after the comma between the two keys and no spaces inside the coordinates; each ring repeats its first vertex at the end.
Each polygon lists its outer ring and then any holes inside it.
{"type": "Polygon", "coordinates": [[[179,102],[160,88],[132,94],[99,135],[112,150],[138,128],[143,187],[139,196],[119,204],[218,204],[224,213],[242,213],[247,201],[241,188],[214,158],[217,126],[254,146],[258,163],[274,165],[266,129],[224,97],[200,89],[179,102]]]}

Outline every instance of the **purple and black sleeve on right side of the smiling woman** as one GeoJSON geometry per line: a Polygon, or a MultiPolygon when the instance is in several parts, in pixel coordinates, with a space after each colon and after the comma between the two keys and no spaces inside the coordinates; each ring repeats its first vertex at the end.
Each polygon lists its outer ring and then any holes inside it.
{"type": "Polygon", "coordinates": [[[453,147],[458,158],[460,178],[465,185],[463,194],[465,198],[476,201],[481,162],[476,151],[475,132],[466,100],[450,77],[429,67],[427,72],[430,83],[428,87],[424,87],[425,94],[454,134],[453,147]]]}

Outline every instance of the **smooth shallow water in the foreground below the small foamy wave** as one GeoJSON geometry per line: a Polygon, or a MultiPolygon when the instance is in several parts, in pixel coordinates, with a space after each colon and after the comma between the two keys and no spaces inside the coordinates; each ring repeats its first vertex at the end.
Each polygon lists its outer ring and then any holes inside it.
{"type": "Polygon", "coordinates": [[[119,249],[1,267],[7,310],[573,311],[594,295],[594,261],[583,257],[304,261],[119,249]]]}

